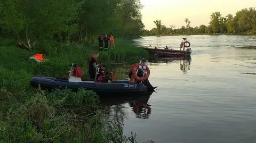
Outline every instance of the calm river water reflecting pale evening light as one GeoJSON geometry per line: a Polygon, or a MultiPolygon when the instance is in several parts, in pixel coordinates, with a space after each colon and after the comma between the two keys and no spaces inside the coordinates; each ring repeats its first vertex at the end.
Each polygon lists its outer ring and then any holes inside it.
{"type": "MultiPolygon", "coordinates": [[[[137,142],[256,142],[256,49],[237,48],[256,46],[256,36],[142,37],[135,44],[179,49],[183,37],[191,59],[148,63],[158,86],[150,97],[105,100],[124,134],[135,132],[137,142]]],[[[125,68],[117,69],[122,78],[125,68]]]]}

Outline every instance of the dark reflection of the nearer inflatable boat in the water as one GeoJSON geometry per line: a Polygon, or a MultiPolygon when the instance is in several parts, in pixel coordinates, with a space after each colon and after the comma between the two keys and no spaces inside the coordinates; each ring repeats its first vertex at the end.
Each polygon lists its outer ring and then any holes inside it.
{"type": "Polygon", "coordinates": [[[148,119],[151,114],[151,105],[148,104],[150,95],[145,96],[100,96],[103,106],[112,106],[128,103],[135,113],[135,117],[148,119]]]}

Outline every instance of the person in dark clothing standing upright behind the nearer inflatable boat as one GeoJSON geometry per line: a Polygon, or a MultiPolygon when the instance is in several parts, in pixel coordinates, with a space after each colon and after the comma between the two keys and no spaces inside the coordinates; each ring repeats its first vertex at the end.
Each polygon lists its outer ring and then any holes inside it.
{"type": "Polygon", "coordinates": [[[93,55],[91,55],[90,60],[89,60],[89,74],[90,74],[90,79],[94,79],[95,80],[95,76],[96,76],[96,68],[99,67],[98,64],[98,59],[99,57],[99,53],[95,52],[93,55]]]}

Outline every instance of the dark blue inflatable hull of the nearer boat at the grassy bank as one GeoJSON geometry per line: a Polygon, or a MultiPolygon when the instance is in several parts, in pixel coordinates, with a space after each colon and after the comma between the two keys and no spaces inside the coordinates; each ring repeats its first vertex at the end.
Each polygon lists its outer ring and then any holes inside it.
{"type": "MultiPolygon", "coordinates": [[[[68,79],[58,79],[52,77],[33,77],[30,85],[42,89],[52,90],[55,88],[71,89],[77,91],[79,88],[92,90],[99,95],[106,94],[144,94],[150,90],[150,83],[129,83],[129,80],[117,80],[111,83],[99,83],[92,80],[83,80],[83,82],[69,82],[68,79]],[[149,88],[148,88],[149,87],[149,88]]],[[[152,87],[152,86],[151,86],[152,87]]],[[[154,90],[154,89],[153,89],[154,90]]]]}

